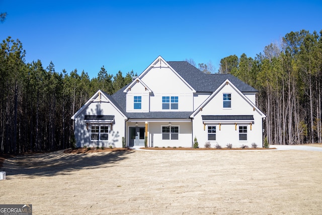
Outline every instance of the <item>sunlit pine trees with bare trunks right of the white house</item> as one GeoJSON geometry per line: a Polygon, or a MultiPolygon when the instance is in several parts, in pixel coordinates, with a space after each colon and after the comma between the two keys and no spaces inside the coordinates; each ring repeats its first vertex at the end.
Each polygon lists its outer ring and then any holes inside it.
{"type": "Polygon", "coordinates": [[[227,56],[218,72],[232,74],[259,90],[257,103],[267,118],[270,144],[322,142],[322,31],[287,33],[255,59],[227,56]]]}

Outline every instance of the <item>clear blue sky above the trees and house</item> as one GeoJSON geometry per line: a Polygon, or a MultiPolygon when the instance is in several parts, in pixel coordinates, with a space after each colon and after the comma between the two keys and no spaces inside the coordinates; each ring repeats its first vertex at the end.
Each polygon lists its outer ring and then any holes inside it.
{"type": "Polygon", "coordinates": [[[322,30],[322,1],[15,1],[0,39],[19,39],[26,62],[52,61],[55,70],[85,70],[97,77],[140,74],[157,56],[167,61],[209,61],[246,53],[255,57],[286,33],[322,30]]]}

